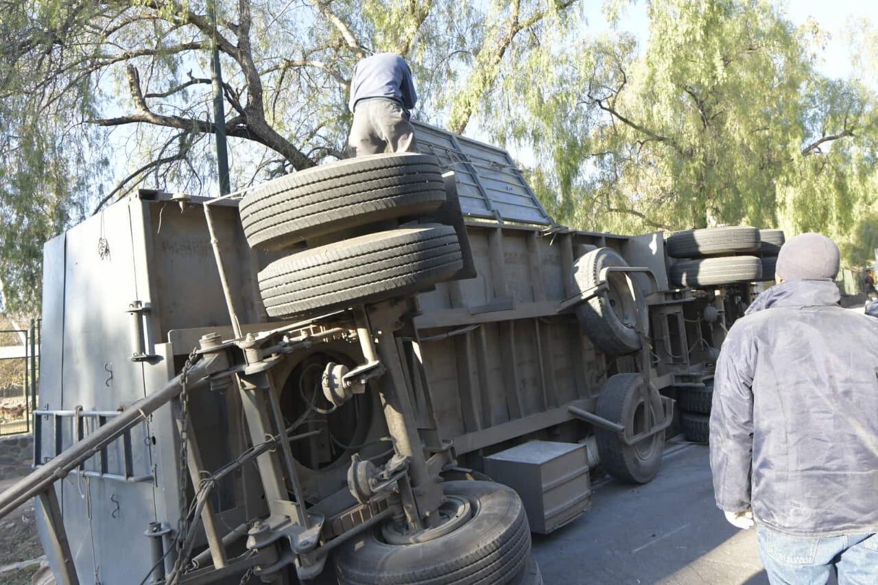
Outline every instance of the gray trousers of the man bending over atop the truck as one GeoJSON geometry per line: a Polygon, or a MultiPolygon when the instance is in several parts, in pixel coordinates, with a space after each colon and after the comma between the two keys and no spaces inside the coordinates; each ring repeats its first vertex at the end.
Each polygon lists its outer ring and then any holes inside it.
{"type": "Polygon", "coordinates": [[[355,156],[414,152],[414,127],[403,107],[392,99],[374,97],[357,102],[348,138],[355,156]]]}

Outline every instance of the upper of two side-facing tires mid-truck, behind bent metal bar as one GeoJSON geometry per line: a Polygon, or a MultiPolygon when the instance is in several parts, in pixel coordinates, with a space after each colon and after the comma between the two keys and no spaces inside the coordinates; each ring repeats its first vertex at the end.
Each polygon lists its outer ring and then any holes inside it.
{"type": "MultiPolygon", "coordinates": [[[[578,258],[573,263],[573,289],[582,293],[597,286],[601,269],[606,266],[628,266],[628,263],[609,248],[594,249],[578,258]]],[[[646,300],[637,281],[631,293],[627,278],[621,272],[609,273],[608,285],[606,292],[580,303],[576,317],[582,332],[598,351],[621,356],[641,347],[639,315],[646,314],[646,300]]]]}

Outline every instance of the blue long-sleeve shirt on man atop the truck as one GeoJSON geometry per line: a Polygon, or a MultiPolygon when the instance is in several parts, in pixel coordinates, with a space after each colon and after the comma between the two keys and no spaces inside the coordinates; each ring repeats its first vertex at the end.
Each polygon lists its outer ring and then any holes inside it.
{"type": "Polygon", "coordinates": [[[392,99],[407,111],[414,108],[418,94],[405,59],[398,54],[378,53],[356,64],[350,79],[350,111],[354,111],[358,101],[369,97],[392,99]]]}

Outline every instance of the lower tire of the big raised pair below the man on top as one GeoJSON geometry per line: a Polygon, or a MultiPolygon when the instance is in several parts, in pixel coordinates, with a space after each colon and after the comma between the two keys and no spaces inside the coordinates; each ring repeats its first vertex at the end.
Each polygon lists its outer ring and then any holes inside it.
{"type": "Polygon", "coordinates": [[[423,224],[307,249],[259,272],[272,317],[353,307],[416,293],[463,267],[454,227],[423,224]]]}

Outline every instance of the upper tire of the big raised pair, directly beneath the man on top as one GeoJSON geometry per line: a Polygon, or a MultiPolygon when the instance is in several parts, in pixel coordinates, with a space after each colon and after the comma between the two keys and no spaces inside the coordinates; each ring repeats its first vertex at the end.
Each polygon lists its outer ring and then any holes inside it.
{"type": "Polygon", "coordinates": [[[431,213],[445,201],[431,155],[371,155],[302,170],[241,199],[251,248],[283,249],[316,235],[379,220],[431,213]]]}

